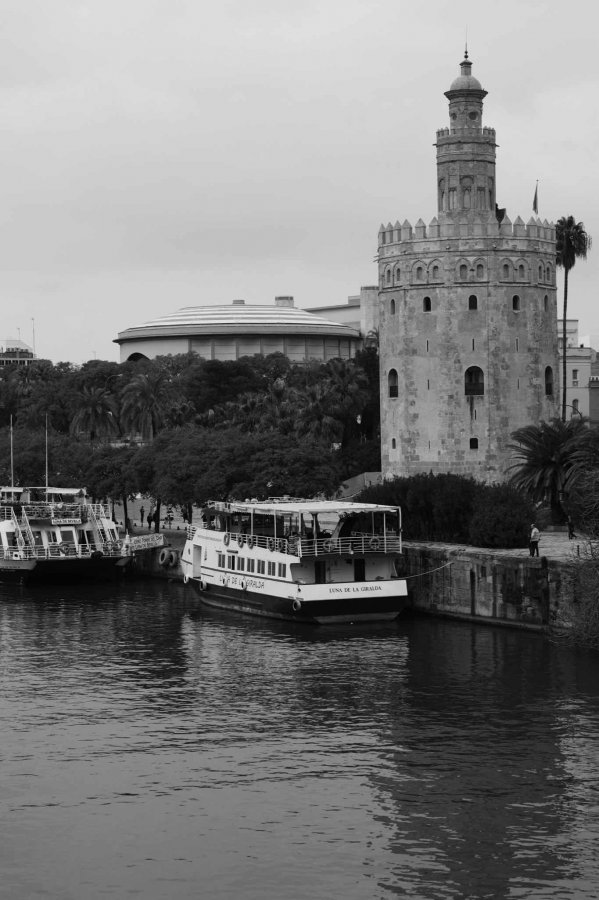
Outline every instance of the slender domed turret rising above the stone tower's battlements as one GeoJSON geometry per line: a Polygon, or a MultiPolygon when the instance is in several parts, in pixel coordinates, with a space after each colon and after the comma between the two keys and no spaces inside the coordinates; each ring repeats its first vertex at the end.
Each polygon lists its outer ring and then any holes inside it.
{"type": "Polygon", "coordinates": [[[438,211],[463,221],[495,215],[495,129],[483,126],[487,92],[472,75],[468,51],[445,96],[449,128],[437,132],[438,211]]]}

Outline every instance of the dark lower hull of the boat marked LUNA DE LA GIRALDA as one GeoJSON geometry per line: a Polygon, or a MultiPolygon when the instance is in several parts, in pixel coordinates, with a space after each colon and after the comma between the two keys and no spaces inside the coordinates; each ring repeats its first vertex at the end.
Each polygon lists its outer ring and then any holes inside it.
{"type": "Polygon", "coordinates": [[[197,591],[201,603],[214,609],[318,625],[392,621],[407,605],[405,582],[399,580],[397,593],[387,596],[301,599],[206,584],[196,578],[190,578],[189,583],[197,591]]]}

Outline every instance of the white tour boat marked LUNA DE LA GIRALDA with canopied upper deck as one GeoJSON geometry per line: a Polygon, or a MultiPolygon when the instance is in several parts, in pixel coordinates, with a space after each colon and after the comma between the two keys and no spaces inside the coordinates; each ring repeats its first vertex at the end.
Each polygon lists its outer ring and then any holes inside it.
{"type": "Polygon", "coordinates": [[[190,525],[184,581],[208,606],[325,623],[394,619],[401,510],[330,500],[212,502],[190,525]]]}

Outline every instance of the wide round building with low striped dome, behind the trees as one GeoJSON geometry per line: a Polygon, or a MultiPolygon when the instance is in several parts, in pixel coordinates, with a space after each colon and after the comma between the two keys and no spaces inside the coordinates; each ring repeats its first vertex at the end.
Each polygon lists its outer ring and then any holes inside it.
{"type": "Polygon", "coordinates": [[[326,362],[355,356],[361,335],[349,325],[296,309],[293,297],[275,297],[274,306],[244,300],[231,306],[186,306],[121,331],[115,343],[121,362],[189,352],[222,361],[284,353],[292,362],[326,362]]]}

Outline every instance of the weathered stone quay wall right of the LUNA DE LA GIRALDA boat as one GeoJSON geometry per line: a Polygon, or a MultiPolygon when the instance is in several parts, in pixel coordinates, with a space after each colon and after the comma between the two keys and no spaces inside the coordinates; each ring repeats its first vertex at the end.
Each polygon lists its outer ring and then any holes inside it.
{"type": "Polygon", "coordinates": [[[404,543],[398,574],[418,612],[546,630],[567,625],[580,596],[574,559],[404,543]]]}

